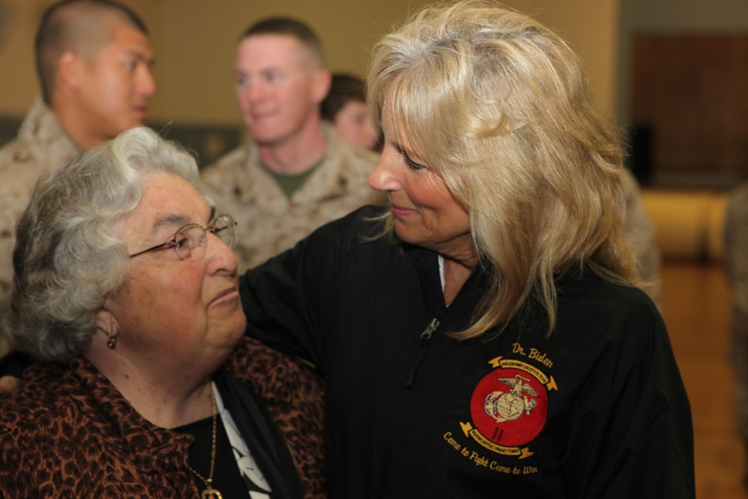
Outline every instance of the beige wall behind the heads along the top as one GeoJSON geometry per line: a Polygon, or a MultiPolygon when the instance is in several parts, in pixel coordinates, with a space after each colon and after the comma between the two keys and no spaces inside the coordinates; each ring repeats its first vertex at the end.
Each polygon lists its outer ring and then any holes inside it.
{"type": "MultiPolygon", "coordinates": [[[[0,0],[14,7],[0,41],[0,115],[21,116],[37,95],[34,30],[49,0],[0,0]]],[[[158,85],[151,117],[159,122],[239,123],[231,69],[236,39],[269,15],[304,19],[322,37],[331,70],[364,74],[370,49],[408,8],[426,0],[122,0],[141,13],[156,51],[158,85]]],[[[583,58],[592,88],[613,111],[619,0],[506,0],[557,29],[583,58]]]]}

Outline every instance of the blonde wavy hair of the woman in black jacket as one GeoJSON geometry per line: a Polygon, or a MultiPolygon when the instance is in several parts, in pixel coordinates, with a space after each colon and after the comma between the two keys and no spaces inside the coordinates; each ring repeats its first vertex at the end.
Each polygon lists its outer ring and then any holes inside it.
{"type": "Polygon", "coordinates": [[[555,281],[571,272],[634,284],[618,134],[553,31],[488,1],[426,7],[375,46],[367,98],[468,206],[491,281],[457,337],[501,328],[531,297],[550,334],[555,281]]]}

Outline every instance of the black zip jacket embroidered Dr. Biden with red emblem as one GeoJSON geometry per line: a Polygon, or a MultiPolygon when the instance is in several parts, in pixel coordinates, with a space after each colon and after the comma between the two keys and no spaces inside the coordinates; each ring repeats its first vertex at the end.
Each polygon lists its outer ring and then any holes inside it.
{"type": "Polygon", "coordinates": [[[530,303],[457,341],[486,276],[446,307],[437,255],[367,240],[376,214],[240,280],[249,333],[325,376],[331,498],[694,497],[690,406],[644,293],[570,276],[550,336],[530,303]]]}

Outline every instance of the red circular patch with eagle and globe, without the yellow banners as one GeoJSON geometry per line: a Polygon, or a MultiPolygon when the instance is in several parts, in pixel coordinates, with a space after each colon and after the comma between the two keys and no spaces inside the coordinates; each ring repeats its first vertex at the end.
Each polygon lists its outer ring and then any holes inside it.
{"type": "Polygon", "coordinates": [[[547,414],[545,386],[524,370],[492,370],[470,398],[473,425],[485,438],[504,447],[518,447],[536,438],[547,414]]]}

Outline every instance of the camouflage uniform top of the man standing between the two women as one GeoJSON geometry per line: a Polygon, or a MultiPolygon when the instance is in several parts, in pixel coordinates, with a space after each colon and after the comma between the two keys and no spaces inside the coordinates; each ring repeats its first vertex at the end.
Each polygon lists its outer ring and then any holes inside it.
{"type": "Polygon", "coordinates": [[[325,159],[289,199],[260,165],[255,144],[227,153],[203,172],[206,195],[236,219],[239,272],[291,248],[321,225],[364,204],[384,203],[368,185],[375,153],[346,144],[327,124],[325,159]]]}

